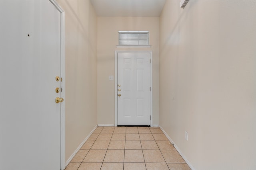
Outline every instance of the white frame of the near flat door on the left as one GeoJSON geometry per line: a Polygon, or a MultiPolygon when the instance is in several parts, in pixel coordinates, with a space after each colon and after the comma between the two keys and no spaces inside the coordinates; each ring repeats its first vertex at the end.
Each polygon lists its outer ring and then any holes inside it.
{"type": "Polygon", "coordinates": [[[66,96],[66,70],[65,70],[65,12],[60,7],[60,5],[56,2],[56,0],[49,0],[52,2],[52,4],[55,6],[55,8],[60,12],[60,31],[61,31],[61,87],[62,87],[62,93],[61,97],[64,98],[64,102],[61,103],[61,127],[60,127],[60,169],[64,170],[66,168],[65,166],[65,108],[66,108],[66,102],[65,102],[65,96],[66,96]]]}

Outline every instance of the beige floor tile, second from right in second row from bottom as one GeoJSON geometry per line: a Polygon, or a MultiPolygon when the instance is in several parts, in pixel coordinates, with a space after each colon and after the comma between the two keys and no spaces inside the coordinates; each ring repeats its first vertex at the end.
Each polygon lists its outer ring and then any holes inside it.
{"type": "Polygon", "coordinates": [[[146,163],[165,163],[160,150],[143,150],[146,163]]]}

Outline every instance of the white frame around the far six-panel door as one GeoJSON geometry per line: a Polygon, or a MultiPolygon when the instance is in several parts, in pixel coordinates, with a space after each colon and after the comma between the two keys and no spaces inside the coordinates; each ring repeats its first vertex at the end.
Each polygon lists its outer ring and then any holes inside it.
{"type": "Polygon", "coordinates": [[[115,51],[115,126],[117,126],[117,55],[118,53],[150,53],[150,127],[153,127],[153,60],[152,51],[115,51]]]}

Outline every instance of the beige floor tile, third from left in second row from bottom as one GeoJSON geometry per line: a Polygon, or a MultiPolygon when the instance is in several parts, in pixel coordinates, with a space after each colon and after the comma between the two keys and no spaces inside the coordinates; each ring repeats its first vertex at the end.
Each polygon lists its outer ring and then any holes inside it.
{"type": "Polygon", "coordinates": [[[103,162],[124,162],[124,150],[107,150],[103,162]]]}

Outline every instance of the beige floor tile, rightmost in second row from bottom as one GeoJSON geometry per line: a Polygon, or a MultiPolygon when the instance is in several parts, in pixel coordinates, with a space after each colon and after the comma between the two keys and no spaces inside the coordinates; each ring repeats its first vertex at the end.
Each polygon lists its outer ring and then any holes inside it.
{"type": "Polygon", "coordinates": [[[177,150],[161,150],[166,163],[186,163],[177,150]]]}

